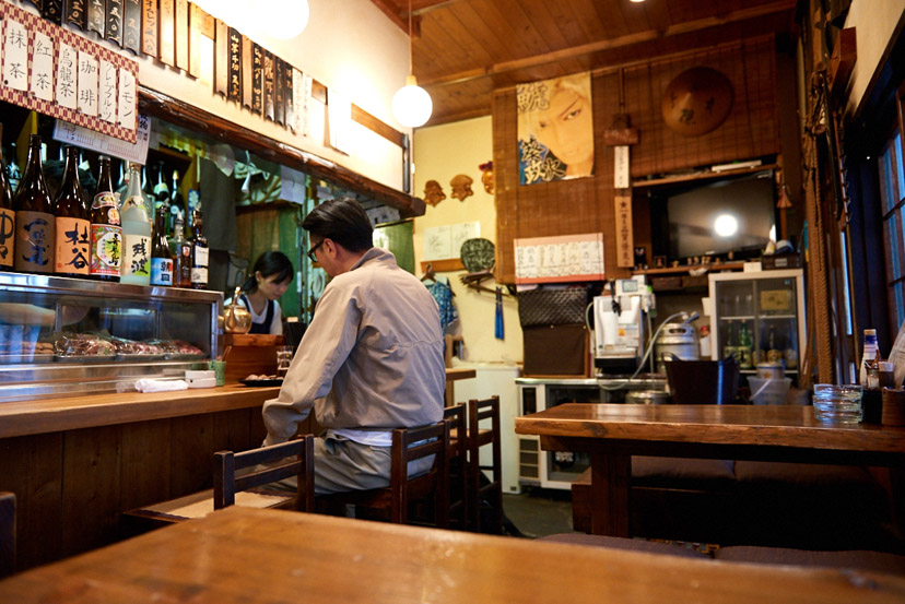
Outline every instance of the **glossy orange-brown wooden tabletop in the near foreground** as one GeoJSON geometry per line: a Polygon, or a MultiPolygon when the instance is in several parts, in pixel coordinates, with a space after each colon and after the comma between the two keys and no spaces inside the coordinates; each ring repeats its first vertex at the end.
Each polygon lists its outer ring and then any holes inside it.
{"type": "Polygon", "coordinates": [[[0,581],[0,602],[901,603],[905,578],[232,507],[0,581]]]}

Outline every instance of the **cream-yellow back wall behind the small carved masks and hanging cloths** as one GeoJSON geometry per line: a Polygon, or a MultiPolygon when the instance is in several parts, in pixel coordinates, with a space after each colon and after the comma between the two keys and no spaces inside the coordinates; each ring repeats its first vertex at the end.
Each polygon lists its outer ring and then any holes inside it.
{"type": "MultiPolygon", "coordinates": [[[[481,185],[478,166],[493,157],[493,130],[490,117],[475,118],[455,123],[419,128],[414,135],[414,193],[424,194],[424,183],[436,180],[443,187],[446,199],[436,206],[427,206],[424,216],[415,218],[414,249],[418,270],[424,256],[424,229],[433,226],[452,225],[478,221],[481,237],[496,242],[496,208],[494,198],[481,185]],[[465,201],[452,199],[449,181],[454,176],[465,174],[474,182],[474,194],[465,201]]],[[[518,323],[518,307],[515,299],[505,297],[503,322],[505,340],[494,337],[495,299],[493,294],[475,292],[465,287],[459,276],[465,271],[444,273],[449,277],[455,304],[459,311],[459,333],[465,339],[467,356],[475,363],[521,363],[521,328],[518,323]]],[[[484,285],[493,289],[496,283],[491,279],[484,285]]]]}

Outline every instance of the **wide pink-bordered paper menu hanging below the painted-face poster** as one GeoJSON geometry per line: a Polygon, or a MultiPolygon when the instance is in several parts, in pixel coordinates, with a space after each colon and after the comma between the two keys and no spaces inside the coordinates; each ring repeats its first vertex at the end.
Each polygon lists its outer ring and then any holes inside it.
{"type": "Polygon", "coordinates": [[[516,283],[601,281],[603,234],[516,239],[516,283]]]}

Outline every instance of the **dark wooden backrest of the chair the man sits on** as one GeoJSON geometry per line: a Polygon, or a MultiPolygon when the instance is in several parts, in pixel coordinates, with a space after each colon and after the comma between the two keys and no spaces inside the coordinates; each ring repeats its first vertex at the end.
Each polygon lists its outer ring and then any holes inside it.
{"type": "Polygon", "coordinates": [[[404,523],[409,497],[425,497],[433,493],[435,524],[449,524],[449,424],[446,421],[422,426],[392,430],[390,467],[390,520],[404,523]],[[409,478],[409,463],[434,457],[434,465],[425,474],[409,478]]]}

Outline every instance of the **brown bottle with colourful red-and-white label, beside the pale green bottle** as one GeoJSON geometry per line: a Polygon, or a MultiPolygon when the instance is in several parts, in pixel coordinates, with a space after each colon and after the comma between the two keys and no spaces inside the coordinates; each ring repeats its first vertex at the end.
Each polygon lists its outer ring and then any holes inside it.
{"type": "Polygon", "coordinates": [[[91,203],[91,276],[101,281],[119,281],[122,254],[122,227],[119,206],[110,179],[110,158],[101,156],[97,189],[91,203]]]}

